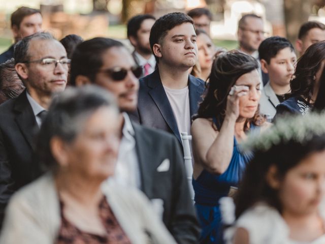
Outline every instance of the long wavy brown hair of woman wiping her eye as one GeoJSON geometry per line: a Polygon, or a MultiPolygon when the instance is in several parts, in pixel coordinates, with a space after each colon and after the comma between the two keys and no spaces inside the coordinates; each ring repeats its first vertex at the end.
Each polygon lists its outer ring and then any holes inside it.
{"type": "MultiPolygon", "coordinates": [[[[212,64],[210,82],[204,99],[199,106],[198,114],[193,119],[216,117],[218,127],[221,127],[231,87],[240,76],[256,69],[258,69],[257,61],[247,54],[237,50],[219,53],[212,64]]],[[[264,121],[265,118],[259,114],[258,107],[255,115],[246,120],[244,130],[248,129],[250,123],[259,126],[264,121]]]]}

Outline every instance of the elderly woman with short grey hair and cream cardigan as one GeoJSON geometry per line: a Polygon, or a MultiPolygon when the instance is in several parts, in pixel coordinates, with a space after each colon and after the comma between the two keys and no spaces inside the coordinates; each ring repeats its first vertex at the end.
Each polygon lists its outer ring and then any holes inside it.
{"type": "Polygon", "coordinates": [[[50,172],[12,197],[0,243],[176,243],[140,192],[101,187],[114,173],[118,121],[100,88],[53,100],[37,150],[50,172]]]}

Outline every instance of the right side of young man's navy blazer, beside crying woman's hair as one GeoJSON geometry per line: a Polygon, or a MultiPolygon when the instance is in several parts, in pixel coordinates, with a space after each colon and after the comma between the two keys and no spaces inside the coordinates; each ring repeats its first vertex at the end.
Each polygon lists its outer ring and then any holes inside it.
{"type": "Polygon", "coordinates": [[[204,87],[200,86],[200,81],[192,75],[188,77],[189,107],[191,117],[198,113],[199,103],[202,100],[204,87]]]}

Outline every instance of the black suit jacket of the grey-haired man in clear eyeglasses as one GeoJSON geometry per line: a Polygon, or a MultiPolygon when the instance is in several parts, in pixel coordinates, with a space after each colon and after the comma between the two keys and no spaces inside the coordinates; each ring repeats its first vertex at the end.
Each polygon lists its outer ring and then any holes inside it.
{"type": "Polygon", "coordinates": [[[10,196],[39,175],[32,160],[38,126],[27,100],[19,97],[0,105],[0,221],[10,196]]]}

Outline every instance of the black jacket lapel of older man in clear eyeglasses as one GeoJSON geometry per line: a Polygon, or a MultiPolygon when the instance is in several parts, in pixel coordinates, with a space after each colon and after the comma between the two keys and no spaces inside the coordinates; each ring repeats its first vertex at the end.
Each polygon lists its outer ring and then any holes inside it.
{"type": "Polygon", "coordinates": [[[17,114],[15,120],[21,133],[31,148],[34,148],[34,135],[37,129],[37,123],[34,112],[27,100],[26,90],[17,98],[14,110],[17,114]]]}

